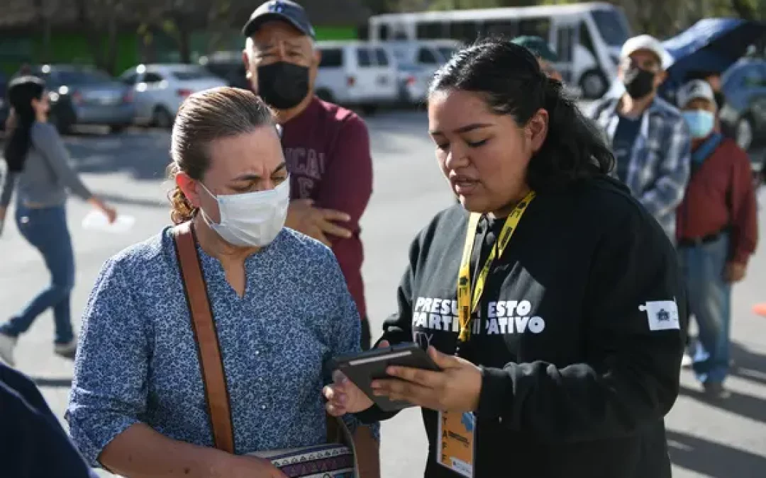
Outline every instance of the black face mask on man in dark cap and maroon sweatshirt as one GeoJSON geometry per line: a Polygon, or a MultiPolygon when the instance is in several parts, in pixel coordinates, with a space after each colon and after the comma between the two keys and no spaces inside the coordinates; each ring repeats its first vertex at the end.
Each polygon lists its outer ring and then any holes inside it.
{"type": "Polygon", "coordinates": [[[309,68],[278,61],[258,67],[258,95],[276,109],[295,108],[309,94],[309,68]]]}

